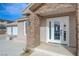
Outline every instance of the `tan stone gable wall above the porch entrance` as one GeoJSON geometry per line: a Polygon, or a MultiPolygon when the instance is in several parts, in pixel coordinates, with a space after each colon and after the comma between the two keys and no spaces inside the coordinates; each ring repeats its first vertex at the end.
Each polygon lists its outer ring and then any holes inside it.
{"type": "Polygon", "coordinates": [[[67,12],[68,11],[67,8],[68,9],[70,8],[69,10],[71,10],[71,9],[74,10],[76,7],[75,7],[75,4],[73,4],[73,3],[45,3],[41,7],[37,8],[35,10],[35,13],[42,15],[42,16],[48,16],[52,13],[56,14],[57,12],[58,13],[67,12]],[[64,9],[64,10],[61,11],[60,9],[64,9]],[[57,10],[57,12],[56,12],[56,10],[57,10]],[[47,12],[47,14],[45,12],[47,12]]]}

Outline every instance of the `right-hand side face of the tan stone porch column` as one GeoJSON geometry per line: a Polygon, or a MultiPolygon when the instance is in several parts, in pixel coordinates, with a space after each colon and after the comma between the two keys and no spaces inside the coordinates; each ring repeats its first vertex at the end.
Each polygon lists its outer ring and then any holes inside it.
{"type": "Polygon", "coordinates": [[[35,20],[34,20],[34,32],[35,32],[35,47],[39,46],[40,44],[40,17],[38,17],[37,15],[35,15],[35,20]]]}

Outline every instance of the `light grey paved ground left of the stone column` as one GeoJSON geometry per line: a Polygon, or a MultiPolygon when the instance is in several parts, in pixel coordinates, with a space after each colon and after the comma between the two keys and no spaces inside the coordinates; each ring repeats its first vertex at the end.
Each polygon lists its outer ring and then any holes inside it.
{"type": "Polygon", "coordinates": [[[0,56],[19,56],[25,44],[0,39],[0,56]]]}

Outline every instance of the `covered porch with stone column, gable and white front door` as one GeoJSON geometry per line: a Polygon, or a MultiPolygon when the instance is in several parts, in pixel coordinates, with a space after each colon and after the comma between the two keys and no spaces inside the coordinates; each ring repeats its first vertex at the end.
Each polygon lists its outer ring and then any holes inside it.
{"type": "MultiPolygon", "coordinates": [[[[34,5],[35,6],[35,5],[34,5]]],[[[32,7],[34,7],[32,6],[32,7]]],[[[28,21],[30,25],[27,27],[27,46],[26,48],[30,48],[33,51],[45,53],[47,55],[76,55],[77,53],[77,5],[76,4],[39,4],[39,6],[27,9],[25,15],[29,17],[28,21]],[[52,5],[52,6],[51,6],[52,5]],[[66,22],[66,18],[62,20],[59,18],[68,16],[68,24],[66,22]],[[63,23],[64,20],[65,25],[59,26],[63,31],[63,35],[61,36],[60,30],[55,41],[55,32],[53,31],[53,25],[47,25],[47,19],[52,18],[51,23],[53,23],[53,19],[59,21],[60,24],[63,23]],[[65,27],[67,26],[67,28],[65,27]],[[47,29],[48,28],[48,29],[47,29]],[[50,29],[52,28],[52,29],[50,29]],[[66,31],[66,33],[64,33],[66,31]],[[47,33],[48,32],[48,33],[47,33]],[[50,33],[49,33],[50,32],[50,33]],[[69,33],[69,34],[68,34],[69,33]],[[51,37],[51,38],[50,38],[51,37]],[[61,38],[62,37],[62,38],[61,38]],[[67,42],[62,41],[66,38],[67,42]],[[50,41],[49,41],[50,40],[50,41]],[[54,40],[54,42],[53,42],[54,40]],[[60,41],[58,43],[57,41],[60,41]],[[42,42],[42,43],[41,43],[42,42]]],[[[48,22],[50,23],[50,22],[48,22]]],[[[57,23],[56,23],[57,24],[57,23]]],[[[54,29],[55,30],[55,29],[54,29]]],[[[32,53],[35,55],[35,52],[32,53]]]]}

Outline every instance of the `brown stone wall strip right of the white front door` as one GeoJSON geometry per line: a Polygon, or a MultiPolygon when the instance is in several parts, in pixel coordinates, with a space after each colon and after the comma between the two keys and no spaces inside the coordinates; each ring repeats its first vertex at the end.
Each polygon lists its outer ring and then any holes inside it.
{"type": "Polygon", "coordinates": [[[76,13],[69,18],[69,45],[76,47],[76,13]]]}

